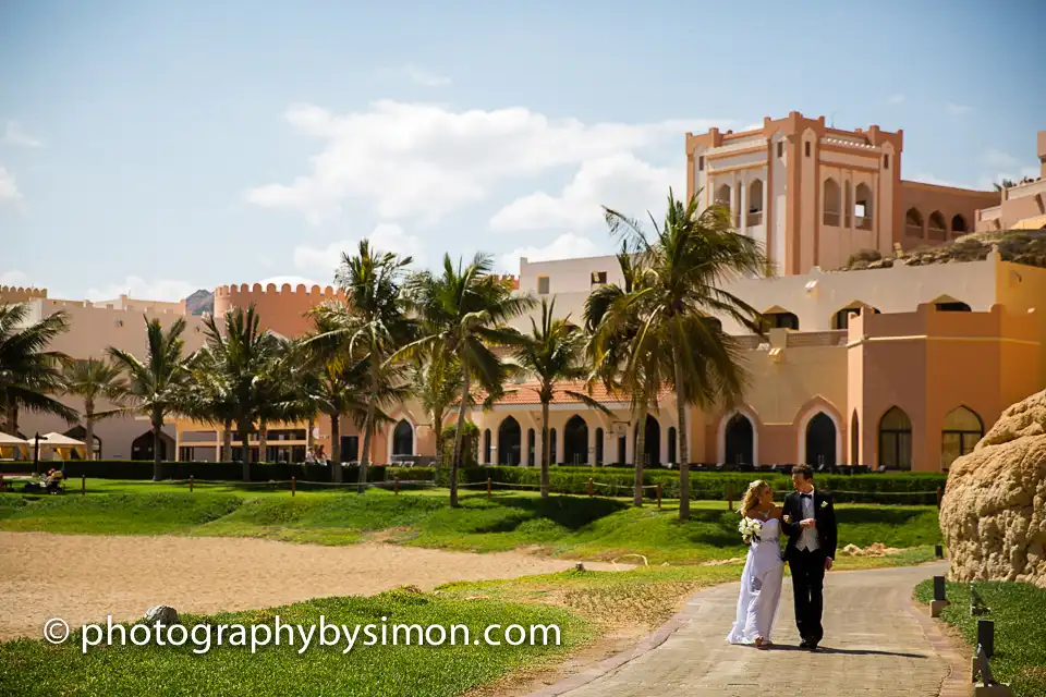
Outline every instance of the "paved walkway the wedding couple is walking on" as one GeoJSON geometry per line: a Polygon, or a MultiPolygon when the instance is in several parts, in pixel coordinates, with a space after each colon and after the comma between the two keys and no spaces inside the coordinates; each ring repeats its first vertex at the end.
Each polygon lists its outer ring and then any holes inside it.
{"type": "Polygon", "coordinates": [[[954,673],[961,658],[949,651],[932,622],[913,613],[911,604],[913,586],[946,568],[938,563],[829,573],[825,639],[815,653],[795,648],[799,635],[789,578],[774,629],[777,648],[767,651],[723,640],[733,623],[739,584],[711,588],[694,596],[634,651],[535,695],[938,697],[942,687],[953,694],[951,683],[959,680],[954,673]]]}

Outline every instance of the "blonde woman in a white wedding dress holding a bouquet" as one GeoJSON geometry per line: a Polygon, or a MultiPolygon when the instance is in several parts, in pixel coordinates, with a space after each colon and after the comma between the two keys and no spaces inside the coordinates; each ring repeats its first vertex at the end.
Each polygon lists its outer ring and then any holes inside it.
{"type": "Polygon", "coordinates": [[[727,641],[754,644],[757,648],[766,649],[773,646],[770,632],[777,620],[781,577],[784,574],[780,543],[781,509],[774,504],[770,485],[762,479],[749,485],[741,503],[741,515],[758,521],[763,529],[749,546],[744,572],[741,574],[738,616],[727,641]]]}

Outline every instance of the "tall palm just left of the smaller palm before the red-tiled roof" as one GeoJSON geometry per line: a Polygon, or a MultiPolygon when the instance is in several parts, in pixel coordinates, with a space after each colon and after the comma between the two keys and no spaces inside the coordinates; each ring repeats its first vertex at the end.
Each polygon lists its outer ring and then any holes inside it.
{"type": "Polygon", "coordinates": [[[475,384],[488,395],[501,392],[507,368],[491,346],[520,345],[522,334],[507,322],[534,306],[532,297],[515,295],[511,286],[491,273],[492,268],[489,255],[477,254],[464,268],[460,261],[455,268],[450,255],[443,255],[440,276],[429,271],[412,276],[406,294],[410,307],[423,322],[424,335],[392,356],[393,359],[416,357],[442,346],[461,366],[461,398],[450,472],[451,506],[458,506],[461,436],[465,411],[472,404],[470,390],[475,384]]]}

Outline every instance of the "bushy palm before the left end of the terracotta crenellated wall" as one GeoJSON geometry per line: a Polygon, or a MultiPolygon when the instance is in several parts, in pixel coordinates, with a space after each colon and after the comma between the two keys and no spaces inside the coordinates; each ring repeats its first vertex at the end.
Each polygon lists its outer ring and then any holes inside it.
{"type": "Polygon", "coordinates": [[[219,328],[214,316],[204,320],[207,343],[215,369],[222,374],[229,389],[229,407],[240,437],[243,480],[251,480],[250,436],[258,421],[259,411],[268,395],[263,376],[278,352],[278,340],[260,328],[260,318],[252,304],[236,307],[224,317],[219,328]]]}

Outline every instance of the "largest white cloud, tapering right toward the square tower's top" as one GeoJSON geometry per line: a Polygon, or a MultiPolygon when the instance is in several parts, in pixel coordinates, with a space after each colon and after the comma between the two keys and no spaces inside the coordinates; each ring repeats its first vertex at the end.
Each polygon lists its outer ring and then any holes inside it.
{"type": "Polygon", "coordinates": [[[346,200],[373,205],[379,218],[425,222],[487,198],[502,182],[554,168],[653,147],[681,147],[681,134],[727,120],[591,123],[550,119],[524,108],[451,111],[379,101],[332,114],[312,105],[287,112],[303,135],[323,138],[312,171],[290,183],[252,188],[245,200],[299,210],[313,223],[338,216],[346,200]]]}

